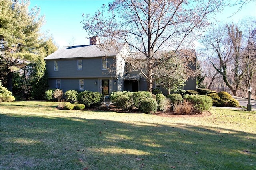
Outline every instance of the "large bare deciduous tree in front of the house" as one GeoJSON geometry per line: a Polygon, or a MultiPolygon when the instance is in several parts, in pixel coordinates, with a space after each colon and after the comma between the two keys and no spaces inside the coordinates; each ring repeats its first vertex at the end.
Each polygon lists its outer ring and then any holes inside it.
{"type": "MultiPolygon", "coordinates": [[[[141,70],[147,89],[152,92],[154,80],[178,71],[158,76],[156,70],[169,59],[179,57],[181,49],[191,49],[200,30],[209,25],[208,17],[223,5],[223,0],[114,0],[108,4],[108,13],[103,5],[93,16],[83,15],[82,23],[90,35],[100,36],[104,43],[125,42],[132,51],[141,53],[143,67],[138,58],[126,61],[141,70]],[[173,55],[156,59],[158,51],[164,50],[172,50],[173,55]]],[[[184,66],[192,59],[185,61],[184,66]]]]}

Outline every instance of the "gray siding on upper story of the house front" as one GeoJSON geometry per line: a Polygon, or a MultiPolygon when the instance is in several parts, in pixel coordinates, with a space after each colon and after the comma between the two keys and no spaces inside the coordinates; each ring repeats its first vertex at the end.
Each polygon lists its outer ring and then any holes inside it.
{"type": "MultiPolygon", "coordinates": [[[[79,59],[46,60],[49,78],[99,78],[114,77],[108,70],[102,70],[102,57],[86,58],[82,60],[82,70],[77,69],[79,59]],[[54,61],[58,61],[58,71],[54,71],[54,61]]],[[[108,57],[108,68],[113,64],[113,57],[108,57]]]]}

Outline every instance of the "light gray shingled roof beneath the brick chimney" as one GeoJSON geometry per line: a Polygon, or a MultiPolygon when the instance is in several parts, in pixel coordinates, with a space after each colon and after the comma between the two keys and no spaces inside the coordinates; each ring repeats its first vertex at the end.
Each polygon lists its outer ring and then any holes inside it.
{"type": "MultiPolygon", "coordinates": [[[[124,43],[118,44],[118,49],[122,49],[124,43]]],[[[101,49],[98,45],[78,45],[61,47],[54,53],[48,55],[44,59],[69,59],[69,58],[82,58],[82,57],[106,57],[106,56],[116,56],[118,54],[117,50],[114,48],[109,48],[106,50],[101,49]]]]}

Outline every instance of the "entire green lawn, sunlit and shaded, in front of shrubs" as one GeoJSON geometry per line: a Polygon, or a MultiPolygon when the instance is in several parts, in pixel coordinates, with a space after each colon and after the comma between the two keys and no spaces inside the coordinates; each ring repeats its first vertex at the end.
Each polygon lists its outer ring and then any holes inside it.
{"type": "Polygon", "coordinates": [[[206,117],[1,103],[1,170],[255,170],[256,111],[206,117]]]}

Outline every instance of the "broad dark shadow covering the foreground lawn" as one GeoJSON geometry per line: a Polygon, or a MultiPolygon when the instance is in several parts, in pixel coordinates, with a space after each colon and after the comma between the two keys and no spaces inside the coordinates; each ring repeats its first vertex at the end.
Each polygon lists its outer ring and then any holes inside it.
{"type": "Polygon", "coordinates": [[[256,136],[183,124],[1,114],[1,169],[253,169],[256,136]]]}

